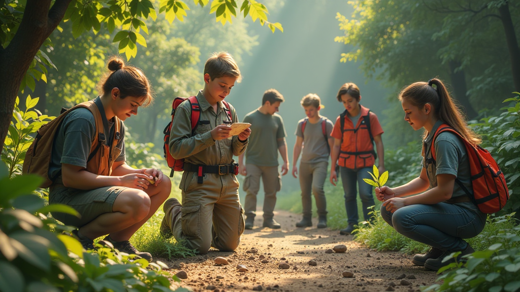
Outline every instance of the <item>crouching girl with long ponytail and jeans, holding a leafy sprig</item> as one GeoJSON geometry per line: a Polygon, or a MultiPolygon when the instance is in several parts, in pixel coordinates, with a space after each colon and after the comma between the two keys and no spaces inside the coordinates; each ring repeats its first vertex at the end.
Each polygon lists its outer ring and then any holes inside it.
{"type": "Polygon", "coordinates": [[[447,124],[470,144],[480,139],[467,127],[464,116],[439,79],[415,82],[399,94],[405,121],[414,130],[424,128],[423,168],[418,178],[396,188],[376,188],[381,216],[400,234],[430,245],[412,263],[437,271],[454,261],[443,262],[453,252],[460,257],[474,249],[463,240],[478,235],[486,223],[466,191],[473,193],[469,157],[464,141],[452,132],[440,132],[447,124]],[[434,147],[432,148],[432,143],[434,147]],[[432,153],[434,149],[435,153],[432,153]]]}

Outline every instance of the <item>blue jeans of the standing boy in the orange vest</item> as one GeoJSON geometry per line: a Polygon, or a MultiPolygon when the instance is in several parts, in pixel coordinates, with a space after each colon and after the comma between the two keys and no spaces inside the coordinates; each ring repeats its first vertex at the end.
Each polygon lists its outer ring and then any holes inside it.
{"type": "Polygon", "coordinates": [[[372,179],[368,171],[372,171],[372,167],[365,167],[358,170],[340,166],[341,181],[343,182],[343,191],[345,192],[345,209],[347,210],[348,224],[358,223],[357,201],[356,201],[356,182],[359,185],[359,197],[363,206],[363,218],[365,221],[370,220],[368,208],[374,206],[374,197],[372,196],[372,186],[363,178],[372,179]]]}

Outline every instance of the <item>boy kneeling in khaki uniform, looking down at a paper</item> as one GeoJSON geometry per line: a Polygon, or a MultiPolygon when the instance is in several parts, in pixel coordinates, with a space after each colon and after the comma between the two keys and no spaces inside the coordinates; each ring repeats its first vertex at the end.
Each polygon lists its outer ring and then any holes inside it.
{"type": "Polygon", "coordinates": [[[170,135],[170,152],[175,159],[185,158],[179,183],[182,205],[176,198],[164,203],[161,223],[163,235],[184,240],[190,249],[207,254],[211,246],[220,251],[235,250],[244,232],[243,209],[238,197],[233,155],[248,145],[251,130],[227,139],[238,122],[235,108],[224,104],[235,82],[240,82],[238,65],[227,52],[210,57],[204,66],[204,90],[197,104],[184,101],[176,109],[170,135]],[[191,111],[200,110],[200,121],[192,133],[191,111]]]}

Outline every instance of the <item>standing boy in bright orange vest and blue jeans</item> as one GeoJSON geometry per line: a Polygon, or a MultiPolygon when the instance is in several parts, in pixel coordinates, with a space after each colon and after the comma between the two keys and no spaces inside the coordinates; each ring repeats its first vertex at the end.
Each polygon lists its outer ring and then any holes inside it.
{"type": "Polygon", "coordinates": [[[332,165],[330,182],[336,185],[336,162],[340,165],[341,181],[345,192],[345,208],[347,209],[348,226],[340,234],[348,235],[354,231],[358,223],[356,202],[356,182],[359,185],[359,196],[363,206],[363,218],[370,220],[368,208],[374,205],[372,187],[363,181],[370,179],[368,171],[372,170],[375,158],[379,155],[379,173],[385,171],[384,149],[381,134],[383,129],[378,117],[369,109],[359,104],[361,95],[354,83],[345,83],[337,92],[337,100],[343,103],[345,111],[336,119],[331,136],[334,137],[332,148],[332,165]]]}

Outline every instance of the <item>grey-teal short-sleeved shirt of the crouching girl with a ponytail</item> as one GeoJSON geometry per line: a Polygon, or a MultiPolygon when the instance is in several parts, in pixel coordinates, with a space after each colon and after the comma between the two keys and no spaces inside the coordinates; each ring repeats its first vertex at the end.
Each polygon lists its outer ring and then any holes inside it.
{"type": "MultiPolygon", "coordinates": [[[[427,149],[427,157],[432,158],[432,153],[430,152],[433,134],[437,130],[437,128],[443,124],[441,121],[437,121],[433,126],[433,129],[424,141],[425,147],[427,149]]],[[[430,188],[437,187],[437,175],[441,174],[449,174],[456,176],[457,179],[464,185],[464,187],[473,193],[473,186],[471,183],[471,170],[470,170],[470,162],[467,157],[466,147],[464,146],[464,142],[450,132],[444,132],[437,136],[435,139],[435,161],[436,165],[430,163],[427,165],[424,162],[423,158],[423,167],[426,168],[428,179],[430,180],[430,188]]],[[[453,186],[453,194],[451,197],[465,196],[466,193],[460,185],[456,182],[453,186]]],[[[481,216],[486,216],[486,214],[480,212],[478,207],[473,204],[473,202],[463,202],[463,203],[455,203],[455,205],[459,205],[461,207],[470,209],[475,213],[478,213],[481,216]]]]}

